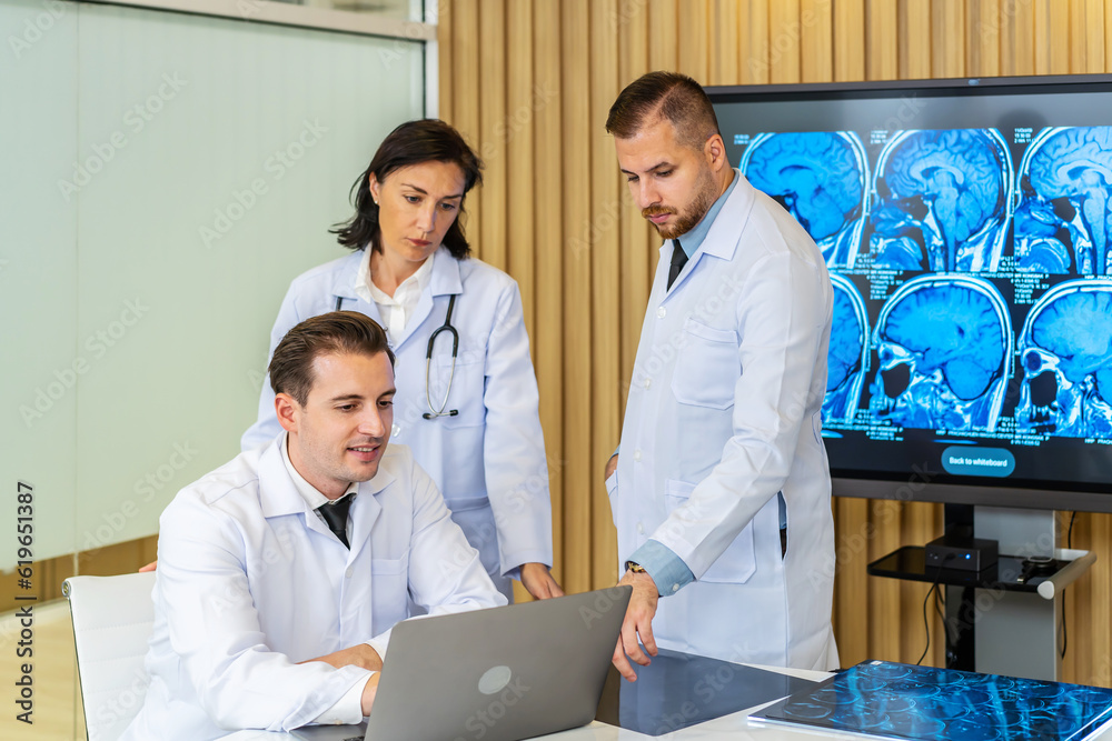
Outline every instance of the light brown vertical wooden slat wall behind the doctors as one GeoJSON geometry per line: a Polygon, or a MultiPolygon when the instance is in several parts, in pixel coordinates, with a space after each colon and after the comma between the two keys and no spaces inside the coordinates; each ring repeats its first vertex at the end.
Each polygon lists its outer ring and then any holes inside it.
{"type": "MultiPolygon", "coordinates": [[[[1112,71],[1112,0],[441,0],[440,113],[487,161],[468,203],[485,260],[522,286],[548,447],[556,572],[605,587],[617,555],[602,470],[617,444],[659,240],[603,131],[652,69],[707,84],[1112,71]]],[[[865,575],[941,533],[937,505],[834,502],[844,665],[914,661],[926,588],[865,575]]],[[[1068,519],[1064,520],[1066,522],[1068,519]]],[[[1064,532],[1063,532],[1064,540],[1064,532]]],[[[1066,594],[1064,679],[1112,685],[1112,517],[1079,514],[1098,563],[1066,594]]],[[[931,652],[943,660],[941,625],[931,652]]]]}

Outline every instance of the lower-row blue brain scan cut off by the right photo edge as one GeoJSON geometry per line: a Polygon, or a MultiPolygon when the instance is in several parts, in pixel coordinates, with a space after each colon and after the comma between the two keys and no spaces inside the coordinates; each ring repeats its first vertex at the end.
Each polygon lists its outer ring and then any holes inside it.
{"type": "Polygon", "coordinates": [[[1017,342],[1021,431],[1112,437],[1112,281],[1060,283],[1031,308],[1017,342]]]}

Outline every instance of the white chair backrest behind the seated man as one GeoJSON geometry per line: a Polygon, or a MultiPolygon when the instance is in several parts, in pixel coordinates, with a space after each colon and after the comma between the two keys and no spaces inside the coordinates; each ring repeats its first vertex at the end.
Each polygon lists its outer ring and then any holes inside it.
{"type": "Polygon", "coordinates": [[[153,572],[62,582],[89,741],[116,741],[142,707],[150,681],[143,659],[155,622],[153,587],[153,572]]]}

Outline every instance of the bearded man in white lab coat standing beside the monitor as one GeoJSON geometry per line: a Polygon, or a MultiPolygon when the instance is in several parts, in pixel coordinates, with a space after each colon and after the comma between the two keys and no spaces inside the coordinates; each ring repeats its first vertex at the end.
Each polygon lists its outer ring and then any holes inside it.
{"type": "Polygon", "coordinates": [[[614,663],[633,680],[629,659],[647,664],[663,645],[834,668],[822,253],[731,169],[691,78],[636,80],[606,130],[666,240],[606,470],[620,583],[634,588],[614,663]]]}

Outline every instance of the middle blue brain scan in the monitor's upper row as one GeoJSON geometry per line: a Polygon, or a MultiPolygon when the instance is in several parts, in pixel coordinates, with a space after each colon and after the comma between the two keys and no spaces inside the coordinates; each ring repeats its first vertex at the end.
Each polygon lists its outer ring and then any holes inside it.
{"type": "Polygon", "coordinates": [[[935,272],[996,270],[1012,178],[1011,154],[995,129],[894,136],[876,163],[872,264],[935,272]]]}

